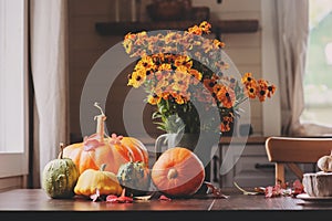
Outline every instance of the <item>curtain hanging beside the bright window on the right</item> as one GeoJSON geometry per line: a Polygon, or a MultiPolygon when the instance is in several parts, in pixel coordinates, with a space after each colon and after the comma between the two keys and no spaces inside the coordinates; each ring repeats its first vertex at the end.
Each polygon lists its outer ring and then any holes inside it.
{"type": "Polygon", "coordinates": [[[309,38],[309,1],[276,0],[282,134],[300,133],[309,38]]]}

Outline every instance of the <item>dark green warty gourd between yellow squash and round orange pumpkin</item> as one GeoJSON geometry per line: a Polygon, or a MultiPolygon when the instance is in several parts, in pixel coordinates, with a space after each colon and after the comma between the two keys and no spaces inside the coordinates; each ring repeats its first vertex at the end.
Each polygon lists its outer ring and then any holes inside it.
{"type": "Polygon", "coordinates": [[[121,165],[117,171],[120,185],[126,189],[126,194],[131,197],[146,194],[151,185],[149,170],[145,162],[131,161],[121,165]]]}

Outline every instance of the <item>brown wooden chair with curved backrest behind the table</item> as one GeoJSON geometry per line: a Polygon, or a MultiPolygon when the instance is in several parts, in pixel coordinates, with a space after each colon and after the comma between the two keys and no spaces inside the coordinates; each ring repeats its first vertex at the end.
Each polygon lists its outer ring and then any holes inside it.
{"type": "Polygon", "coordinates": [[[269,161],[276,164],[276,183],[284,185],[284,166],[302,181],[303,171],[297,164],[315,164],[329,156],[332,138],[269,137],[266,150],[269,161]]]}

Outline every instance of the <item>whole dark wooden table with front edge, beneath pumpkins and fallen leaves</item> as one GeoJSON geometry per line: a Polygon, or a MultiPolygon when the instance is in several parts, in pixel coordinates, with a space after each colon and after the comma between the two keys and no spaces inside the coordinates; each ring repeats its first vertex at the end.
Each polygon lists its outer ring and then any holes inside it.
{"type": "MultiPolygon", "coordinates": [[[[11,218],[53,218],[63,220],[69,217],[80,215],[83,219],[96,220],[170,220],[178,214],[207,219],[209,215],[222,219],[222,215],[237,217],[250,215],[255,220],[269,220],[270,217],[293,218],[324,218],[332,214],[332,201],[324,203],[308,203],[291,197],[264,198],[264,196],[245,196],[241,192],[227,189],[222,190],[228,199],[216,199],[208,194],[194,196],[190,199],[173,199],[172,201],[151,201],[134,203],[110,203],[105,201],[74,198],[69,200],[50,199],[41,189],[17,189],[0,193],[0,219],[3,215],[11,218]],[[208,212],[210,211],[210,212],[208,212]],[[141,219],[143,218],[143,219],[141,219]]],[[[248,217],[249,218],[249,217],[248,217]]],[[[35,220],[35,219],[33,219],[35,220]]],[[[248,220],[248,219],[246,219],[248,220]]],[[[302,219],[303,220],[303,219],[302,219]]],[[[329,220],[329,219],[328,219],[329,220]]]]}

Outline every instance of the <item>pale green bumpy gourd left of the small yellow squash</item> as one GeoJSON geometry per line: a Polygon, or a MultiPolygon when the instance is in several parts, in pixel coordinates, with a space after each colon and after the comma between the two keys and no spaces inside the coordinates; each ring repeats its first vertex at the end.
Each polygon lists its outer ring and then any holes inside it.
{"type": "Polygon", "coordinates": [[[80,176],[75,164],[63,158],[63,144],[60,148],[59,158],[49,161],[42,172],[42,189],[53,199],[72,198],[80,176]]]}

